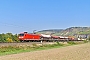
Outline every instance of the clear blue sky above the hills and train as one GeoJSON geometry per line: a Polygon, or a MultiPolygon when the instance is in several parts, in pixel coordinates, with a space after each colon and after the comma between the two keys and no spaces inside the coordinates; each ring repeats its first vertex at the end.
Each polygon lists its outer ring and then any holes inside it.
{"type": "Polygon", "coordinates": [[[0,33],[90,26],[90,0],[0,0],[0,33]]]}

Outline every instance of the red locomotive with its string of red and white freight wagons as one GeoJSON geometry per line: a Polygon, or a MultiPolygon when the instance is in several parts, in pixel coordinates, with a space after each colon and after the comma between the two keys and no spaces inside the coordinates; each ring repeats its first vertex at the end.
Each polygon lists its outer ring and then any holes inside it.
{"type": "Polygon", "coordinates": [[[75,40],[75,38],[24,32],[19,34],[19,40],[21,42],[23,41],[65,41],[65,40],[75,40]]]}

